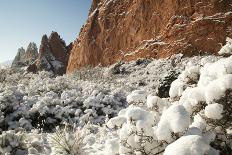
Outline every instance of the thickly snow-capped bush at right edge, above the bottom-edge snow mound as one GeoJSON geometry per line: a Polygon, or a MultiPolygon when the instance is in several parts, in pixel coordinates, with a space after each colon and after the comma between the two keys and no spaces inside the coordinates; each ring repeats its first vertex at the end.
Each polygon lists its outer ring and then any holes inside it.
{"type": "Polygon", "coordinates": [[[206,63],[200,69],[197,85],[188,85],[181,94],[179,104],[190,113],[191,126],[202,133],[213,131],[217,134],[211,145],[222,152],[231,143],[232,57],[206,63]],[[195,119],[197,118],[197,119],[195,119]]]}

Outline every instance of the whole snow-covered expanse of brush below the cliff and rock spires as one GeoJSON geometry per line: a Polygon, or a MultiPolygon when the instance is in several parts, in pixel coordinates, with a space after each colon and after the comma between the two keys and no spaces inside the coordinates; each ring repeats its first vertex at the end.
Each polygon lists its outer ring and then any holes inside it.
{"type": "Polygon", "coordinates": [[[231,98],[232,57],[176,55],[59,77],[2,69],[0,154],[231,154],[231,98]]]}

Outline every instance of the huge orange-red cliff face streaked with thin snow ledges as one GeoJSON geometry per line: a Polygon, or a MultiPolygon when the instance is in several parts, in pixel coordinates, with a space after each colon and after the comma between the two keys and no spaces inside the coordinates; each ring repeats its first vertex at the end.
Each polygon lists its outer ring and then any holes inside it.
{"type": "Polygon", "coordinates": [[[93,0],[67,72],[137,58],[216,54],[232,37],[231,0],[93,0]]]}

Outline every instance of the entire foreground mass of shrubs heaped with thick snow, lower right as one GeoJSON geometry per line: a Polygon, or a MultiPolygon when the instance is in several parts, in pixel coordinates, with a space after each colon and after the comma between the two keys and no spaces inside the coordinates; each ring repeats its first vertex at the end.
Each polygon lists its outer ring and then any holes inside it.
{"type": "Polygon", "coordinates": [[[171,84],[168,100],[133,91],[127,96],[130,106],[107,122],[118,133],[112,143],[105,143],[107,150],[114,154],[230,154],[231,64],[232,57],[188,63],[171,84]]]}

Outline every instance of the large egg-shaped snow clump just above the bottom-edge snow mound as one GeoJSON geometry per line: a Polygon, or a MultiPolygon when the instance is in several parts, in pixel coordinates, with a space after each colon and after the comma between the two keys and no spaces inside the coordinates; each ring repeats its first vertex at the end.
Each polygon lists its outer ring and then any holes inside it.
{"type": "Polygon", "coordinates": [[[182,105],[172,105],[163,112],[156,136],[159,140],[170,140],[171,132],[178,133],[184,131],[190,124],[190,116],[182,105]]]}

